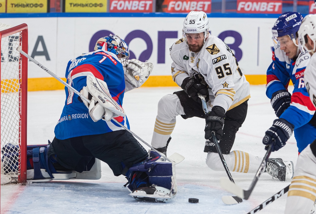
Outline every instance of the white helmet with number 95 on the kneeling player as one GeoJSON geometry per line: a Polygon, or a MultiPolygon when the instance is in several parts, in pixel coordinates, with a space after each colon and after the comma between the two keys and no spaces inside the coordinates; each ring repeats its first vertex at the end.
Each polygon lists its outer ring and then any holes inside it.
{"type": "Polygon", "coordinates": [[[183,22],[183,38],[185,34],[197,34],[204,32],[204,42],[209,35],[209,20],[203,11],[191,11],[183,22]]]}

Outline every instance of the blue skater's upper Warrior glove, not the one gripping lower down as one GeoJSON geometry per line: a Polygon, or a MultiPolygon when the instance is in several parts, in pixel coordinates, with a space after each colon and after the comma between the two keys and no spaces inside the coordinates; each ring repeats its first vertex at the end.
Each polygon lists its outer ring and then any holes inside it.
{"type": "Polygon", "coordinates": [[[290,103],[291,94],[287,90],[279,90],[272,94],[271,106],[278,118],[290,106],[290,103]]]}

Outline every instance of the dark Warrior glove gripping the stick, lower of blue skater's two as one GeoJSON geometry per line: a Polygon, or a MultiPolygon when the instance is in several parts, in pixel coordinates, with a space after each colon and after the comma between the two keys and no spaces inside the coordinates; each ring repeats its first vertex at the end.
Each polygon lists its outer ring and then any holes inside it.
{"type": "MultiPolygon", "coordinates": [[[[264,145],[274,144],[272,151],[277,151],[285,146],[286,141],[292,136],[294,125],[280,118],[273,121],[273,125],[265,132],[262,140],[264,145]]],[[[268,150],[266,147],[265,150],[268,150]]]]}

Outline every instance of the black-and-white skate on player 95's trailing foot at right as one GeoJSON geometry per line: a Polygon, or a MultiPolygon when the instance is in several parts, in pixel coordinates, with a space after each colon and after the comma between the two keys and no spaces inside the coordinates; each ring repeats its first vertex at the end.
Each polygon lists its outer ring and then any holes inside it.
{"type": "Polygon", "coordinates": [[[294,165],[292,161],[283,161],[281,158],[269,158],[265,172],[280,181],[285,181],[293,178],[294,165]]]}

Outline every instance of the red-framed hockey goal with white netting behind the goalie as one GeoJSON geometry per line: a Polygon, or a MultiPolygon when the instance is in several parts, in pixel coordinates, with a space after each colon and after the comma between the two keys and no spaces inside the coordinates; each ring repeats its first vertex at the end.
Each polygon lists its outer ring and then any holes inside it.
{"type": "Polygon", "coordinates": [[[1,184],[26,182],[27,25],[0,23],[1,39],[1,184]]]}

